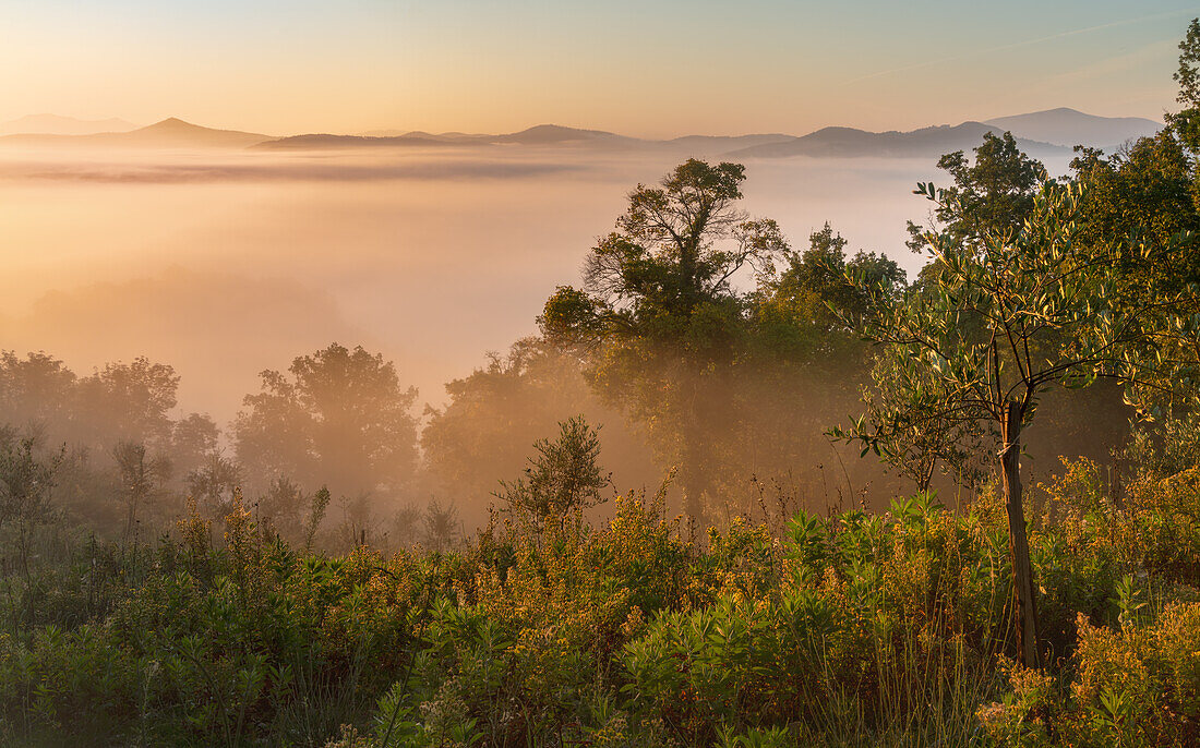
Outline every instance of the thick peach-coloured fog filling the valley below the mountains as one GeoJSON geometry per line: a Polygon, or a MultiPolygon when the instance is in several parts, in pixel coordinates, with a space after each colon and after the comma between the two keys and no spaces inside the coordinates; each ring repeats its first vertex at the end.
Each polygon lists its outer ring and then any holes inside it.
{"type": "MultiPolygon", "coordinates": [[[[0,348],[79,372],[145,355],[180,408],[233,417],[258,372],[330,342],[396,362],[420,402],[535,331],[638,182],[718,149],[0,149],[0,348]]],[[[744,159],[745,206],[793,247],[830,222],[912,273],[935,158],[744,159]]],[[[1051,174],[1066,156],[1045,159],[1051,174]],[[1056,163],[1057,161],[1057,163],[1056,163]]]]}

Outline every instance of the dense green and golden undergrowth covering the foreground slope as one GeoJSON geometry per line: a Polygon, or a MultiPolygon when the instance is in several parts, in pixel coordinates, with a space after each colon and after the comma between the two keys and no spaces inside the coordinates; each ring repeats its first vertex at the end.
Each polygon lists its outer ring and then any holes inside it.
{"type": "Polygon", "coordinates": [[[1120,500],[1103,477],[1043,487],[1045,671],[1012,659],[986,494],[701,536],[635,494],[601,527],[390,557],[288,547],[240,506],[157,544],[43,532],[5,560],[0,742],[1196,744],[1200,471],[1120,500]]]}

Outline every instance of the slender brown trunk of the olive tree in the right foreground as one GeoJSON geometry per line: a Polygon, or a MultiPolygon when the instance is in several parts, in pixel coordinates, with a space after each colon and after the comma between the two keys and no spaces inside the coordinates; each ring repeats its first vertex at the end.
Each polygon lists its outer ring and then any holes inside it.
{"type": "Polygon", "coordinates": [[[1016,644],[1021,651],[1021,664],[1026,668],[1040,668],[1033,567],[1030,563],[1030,539],[1021,502],[1021,414],[1016,403],[1009,402],[1006,405],[1001,436],[1004,445],[1000,463],[1004,479],[1004,508],[1008,511],[1008,549],[1013,562],[1016,644]]]}

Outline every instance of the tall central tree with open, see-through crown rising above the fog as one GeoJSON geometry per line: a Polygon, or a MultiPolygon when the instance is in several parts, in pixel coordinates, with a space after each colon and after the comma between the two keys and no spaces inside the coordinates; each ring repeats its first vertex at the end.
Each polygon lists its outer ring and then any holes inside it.
{"type": "Polygon", "coordinates": [[[727,421],[730,367],[746,325],[739,280],[788,255],[774,221],[738,210],[740,164],[689,159],[638,185],[617,230],[588,255],[584,288],[559,288],[539,318],[551,342],[580,345],[594,386],[626,408],[679,463],[686,511],[702,517],[706,422],[727,421]]]}

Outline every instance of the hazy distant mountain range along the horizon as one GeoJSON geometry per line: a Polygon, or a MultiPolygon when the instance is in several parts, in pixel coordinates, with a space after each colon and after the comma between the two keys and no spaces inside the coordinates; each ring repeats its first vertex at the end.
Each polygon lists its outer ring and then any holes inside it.
{"type": "MultiPolygon", "coordinates": [[[[42,120],[52,115],[38,115],[42,120]]],[[[54,117],[64,120],[65,117],[54,117]]],[[[25,117],[30,120],[30,117],[25,117]]],[[[23,120],[17,120],[20,122],[23,120]]],[[[104,120],[104,122],[120,120],[104,120]]],[[[74,122],[80,122],[76,120],[74,122]]],[[[95,123],[92,123],[95,125],[95,123]]],[[[127,123],[126,123],[127,125],[127,123]]],[[[59,122],[60,128],[66,127],[59,122]]],[[[83,126],[79,125],[80,127],[83,126]]],[[[559,125],[538,125],[506,134],[427,133],[376,131],[359,135],[312,133],[275,138],[262,133],[212,129],[175,117],[149,127],[125,132],[88,134],[37,133],[0,137],[14,145],[104,146],[104,147],[221,147],[266,151],[360,150],[389,147],[492,147],[526,146],[588,150],[666,150],[679,155],[728,156],[733,158],[818,158],[853,157],[936,157],[979,145],[984,133],[1013,133],[1020,147],[1040,156],[1066,153],[1075,144],[1112,151],[1122,143],[1158,132],[1162,125],[1141,117],[1102,117],[1074,109],[1050,109],[986,122],[924,127],[908,132],[868,132],[852,127],[826,127],[806,135],[782,133],[752,135],[685,135],[670,140],[630,138],[599,129],[577,129],[559,125]]]]}

